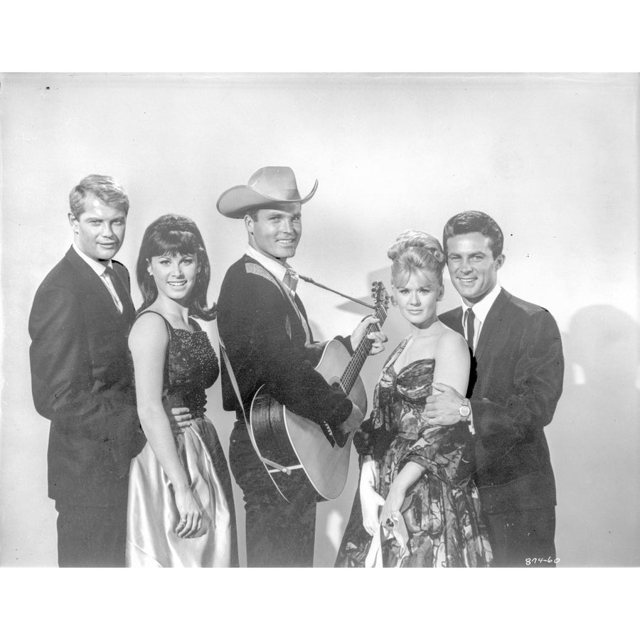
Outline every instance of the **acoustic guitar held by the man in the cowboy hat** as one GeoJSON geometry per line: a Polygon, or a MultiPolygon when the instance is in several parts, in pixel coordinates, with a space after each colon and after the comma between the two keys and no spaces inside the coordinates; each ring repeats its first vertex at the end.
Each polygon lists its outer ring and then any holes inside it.
{"type": "MultiPolygon", "coordinates": [[[[375,331],[387,318],[389,296],[382,282],[372,287],[378,324],[370,324],[366,331],[375,331]]],[[[367,394],[360,378],[360,371],[371,350],[366,337],[350,356],[342,343],[330,340],[326,343],[316,371],[329,385],[337,385],[348,395],[365,416],[367,394]]],[[[250,408],[249,434],[258,457],[265,465],[273,483],[282,497],[291,496],[304,489],[314,492],[317,501],[337,498],[343,491],[349,470],[351,441],[360,422],[349,417],[339,429],[345,435],[338,444],[327,425],[289,411],[272,395],[257,390],[250,408]],[[357,422],[357,424],[356,424],[357,422]]]]}

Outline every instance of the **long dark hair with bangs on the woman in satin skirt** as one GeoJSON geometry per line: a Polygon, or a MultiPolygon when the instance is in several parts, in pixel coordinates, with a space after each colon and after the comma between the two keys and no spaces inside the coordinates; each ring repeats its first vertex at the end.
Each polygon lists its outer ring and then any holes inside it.
{"type": "Polygon", "coordinates": [[[196,284],[191,292],[189,315],[202,320],[215,318],[215,303],[207,306],[207,289],[211,267],[202,234],[196,223],[186,215],[167,213],[152,222],[142,236],[142,245],[138,255],[136,277],[142,292],[142,305],[138,312],[146,309],[158,297],[158,288],[148,267],[152,257],[160,255],[196,255],[199,271],[196,284]]]}

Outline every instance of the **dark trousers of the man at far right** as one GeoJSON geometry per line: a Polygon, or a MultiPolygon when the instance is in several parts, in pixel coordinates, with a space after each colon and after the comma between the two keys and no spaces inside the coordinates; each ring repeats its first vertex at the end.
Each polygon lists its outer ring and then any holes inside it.
{"type": "Polygon", "coordinates": [[[555,567],[555,507],[485,514],[492,567],[555,567]]]}

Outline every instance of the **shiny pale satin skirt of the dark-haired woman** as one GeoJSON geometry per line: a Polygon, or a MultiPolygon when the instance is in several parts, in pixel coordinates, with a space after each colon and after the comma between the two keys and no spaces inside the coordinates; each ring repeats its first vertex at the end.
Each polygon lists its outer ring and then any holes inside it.
{"type": "Polygon", "coordinates": [[[176,437],[178,455],[203,511],[193,538],[179,538],[174,491],[149,442],[132,460],[127,567],[229,567],[237,555],[231,481],[220,440],[206,417],[176,437]]]}

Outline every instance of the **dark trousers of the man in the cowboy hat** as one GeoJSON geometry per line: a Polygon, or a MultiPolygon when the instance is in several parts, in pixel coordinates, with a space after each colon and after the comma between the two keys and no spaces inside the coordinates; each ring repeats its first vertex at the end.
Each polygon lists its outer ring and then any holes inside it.
{"type": "Polygon", "coordinates": [[[248,567],[312,567],[315,496],[300,492],[287,502],[252,447],[244,422],[236,422],[229,463],[245,494],[248,567]]]}

